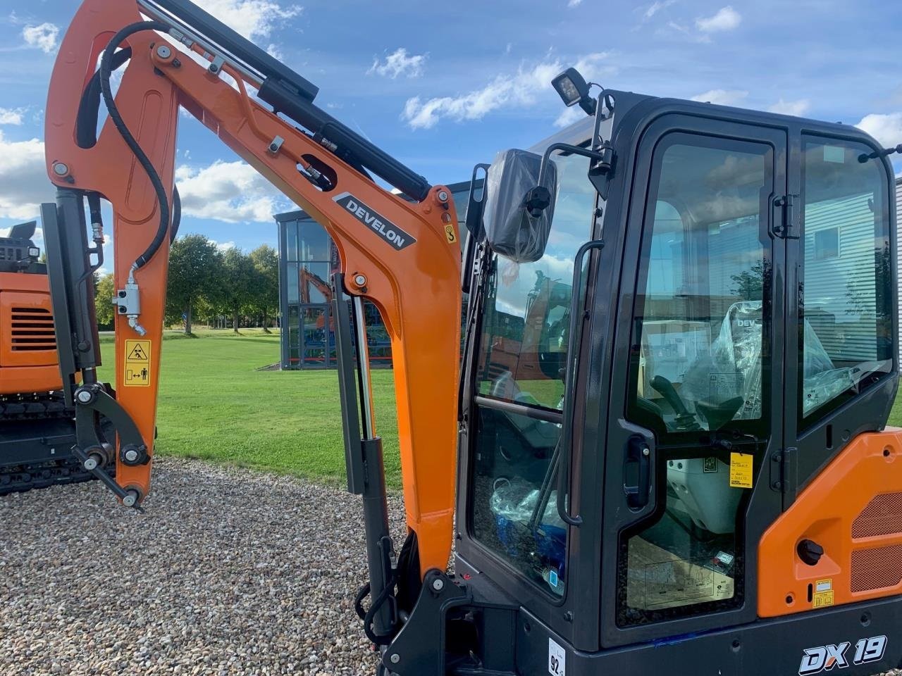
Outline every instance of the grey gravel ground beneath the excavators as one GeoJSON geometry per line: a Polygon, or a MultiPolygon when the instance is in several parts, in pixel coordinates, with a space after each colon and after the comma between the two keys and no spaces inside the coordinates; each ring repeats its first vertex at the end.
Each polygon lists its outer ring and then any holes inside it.
{"type": "MultiPolygon", "coordinates": [[[[2,676],[372,676],[359,499],[156,462],[143,515],[96,483],[0,498],[2,676]]],[[[400,542],[400,498],[389,507],[400,542]]]]}

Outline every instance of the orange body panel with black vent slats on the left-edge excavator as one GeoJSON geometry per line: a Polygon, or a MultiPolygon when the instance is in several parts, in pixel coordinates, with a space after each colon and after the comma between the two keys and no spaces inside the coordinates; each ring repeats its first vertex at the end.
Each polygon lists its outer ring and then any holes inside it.
{"type": "Polygon", "coordinates": [[[0,395],[60,388],[47,275],[0,273],[0,395]]]}

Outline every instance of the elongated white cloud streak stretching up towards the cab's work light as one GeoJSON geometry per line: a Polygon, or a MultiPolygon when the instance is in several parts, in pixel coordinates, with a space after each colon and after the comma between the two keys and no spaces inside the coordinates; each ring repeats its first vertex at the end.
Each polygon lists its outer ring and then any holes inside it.
{"type": "MultiPolygon", "coordinates": [[[[575,63],[586,79],[598,78],[612,68],[603,64],[606,52],[587,54],[575,63]]],[[[480,120],[486,114],[508,105],[533,105],[537,94],[551,96],[551,78],[564,70],[560,59],[546,60],[532,68],[520,69],[514,75],[499,75],[481,89],[460,96],[440,96],[423,101],[419,96],[408,99],[401,119],[414,129],[429,129],[442,118],[463,122],[480,120]]]]}

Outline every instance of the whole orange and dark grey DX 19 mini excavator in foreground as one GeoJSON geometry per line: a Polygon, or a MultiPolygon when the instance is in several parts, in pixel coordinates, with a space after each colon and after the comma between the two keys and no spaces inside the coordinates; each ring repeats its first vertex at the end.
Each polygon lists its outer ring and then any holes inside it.
{"type": "Polygon", "coordinates": [[[336,243],[348,489],[363,497],[370,579],[354,605],[382,673],[899,667],[894,150],[841,124],[591,96],[574,69],[552,84],[586,118],[478,165],[485,188],[461,233],[446,187],[198,6],[86,0],[51,80],[58,192],[41,207],[72,452],[141,508],[181,106],[336,243]],[[115,398],[97,382],[83,283],[101,199],[114,214],[115,398]],[[364,298],[392,342],[400,551],[364,298]],[[100,416],[117,433],[115,480],[99,470],[100,416]]]}

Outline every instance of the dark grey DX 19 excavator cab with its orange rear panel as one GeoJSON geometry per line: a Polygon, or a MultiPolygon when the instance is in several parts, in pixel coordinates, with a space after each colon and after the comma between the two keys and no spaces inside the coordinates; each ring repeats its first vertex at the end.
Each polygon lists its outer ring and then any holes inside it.
{"type": "Polygon", "coordinates": [[[879,146],[608,90],[594,117],[500,153],[487,185],[467,218],[456,572],[517,599],[492,668],[897,666],[879,146]]]}

